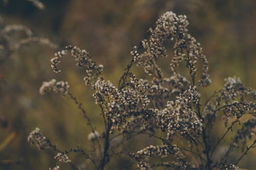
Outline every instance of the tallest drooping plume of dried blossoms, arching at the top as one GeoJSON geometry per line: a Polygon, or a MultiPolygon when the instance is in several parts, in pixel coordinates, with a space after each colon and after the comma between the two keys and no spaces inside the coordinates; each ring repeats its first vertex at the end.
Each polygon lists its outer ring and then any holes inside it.
{"type": "Polygon", "coordinates": [[[187,26],[188,21],[185,15],[176,16],[173,12],[166,12],[156,22],[156,28],[150,29],[151,36],[148,39],[142,41],[145,52],[139,55],[138,49],[135,46],[131,52],[133,60],[137,63],[137,66],[144,68],[145,72],[157,77],[162,78],[162,71],[156,64],[156,61],[160,57],[167,57],[164,41],[170,40],[174,44],[174,57],[170,66],[177,74],[176,67],[180,62],[186,61],[189,68],[189,74],[193,78],[195,83],[196,77],[196,64],[197,60],[201,60],[203,63],[202,76],[199,81],[199,85],[208,86],[210,79],[208,75],[208,61],[202,54],[202,48],[200,43],[196,41],[194,37],[188,34],[187,26]]]}

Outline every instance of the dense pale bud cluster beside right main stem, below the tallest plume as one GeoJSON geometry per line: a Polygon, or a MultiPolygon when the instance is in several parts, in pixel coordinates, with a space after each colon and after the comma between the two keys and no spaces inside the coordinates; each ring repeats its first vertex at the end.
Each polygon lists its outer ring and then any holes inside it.
{"type": "Polygon", "coordinates": [[[200,101],[200,95],[194,86],[193,88],[181,93],[176,101],[170,101],[167,103],[166,108],[163,110],[163,120],[168,116],[168,121],[164,120],[168,124],[167,138],[171,138],[176,131],[181,136],[186,137],[191,142],[195,140],[202,132],[202,120],[198,117],[197,113],[193,110],[193,106],[197,105],[200,101]],[[170,114],[172,112],[172,114],[170,114]]]}

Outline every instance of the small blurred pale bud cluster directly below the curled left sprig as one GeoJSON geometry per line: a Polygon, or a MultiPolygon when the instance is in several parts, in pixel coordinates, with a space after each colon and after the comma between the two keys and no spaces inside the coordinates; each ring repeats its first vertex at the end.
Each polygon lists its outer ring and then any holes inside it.
{"type": "Polygon", "coordinates": [[[44,95],[48,92],[54,91],[56,93],[60,92],[63,96],[65,96],[68,93],[68,88],[68,82],[57,82],[55,79],[52,79],[49,82],[43,82],[39,89],[39,92],[40,94],[44,95]]]}

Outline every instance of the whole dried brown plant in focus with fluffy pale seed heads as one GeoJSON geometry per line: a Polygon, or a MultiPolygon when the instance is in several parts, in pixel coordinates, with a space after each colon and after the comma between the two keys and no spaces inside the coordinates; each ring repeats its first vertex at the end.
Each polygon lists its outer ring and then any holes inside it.
{"type": "MultiPolygon", "coordinates": [[[[256,92],[245,87],[239,78],[229,77],[224,87],[203,103],[200,88],[211,82],[208,61],[200,43],[188,33],[187,26],[186,16],[164,13],[157,20],[156,27],[147,32],[138,47],[133,48],[132,61],[121,76],[118,87],[104,80],[101,74],[103,66],[97,65],[87,51],[67,46],[57,52],[51,60],[54,72],[59,72],[57,64],[69,52],[76,65],[86,69],[84,81],[92,86],[105,130],[96,131],[82,104],[69,91],[67,82],[53,79],[42,84],[40,93],[60,92],[75,102],[91,128],[88,139],[92,143],[92,151],[80,147],[60,151],[38,128],[30,134],[28,141],[36,143],[40,150],[52,148],[57,152],[54,157],[57,162],[72,163],[68,155],[71,152],[81,153],[95,169],[104,169],[114,155],[130,157],[139,169],[239,169],[238,163],[256,143],[256,104],[253,102],[256,92]],[[174,45],[174,57],[170,63],[173,76],[169,78],[163,76],[157,65],[159,58],[167,57],[164,46],[167,40],[174,45]],[[199,80],[198,60],[202,63],[199,80]],[[181,62],[186,63],[190,81],[177,72],[181,62]],[[132,74],[134,65],[142,67],[151,79],[142,80],[132,74]],[[249,118],[242,122],[245,114],[249,118]],[[219,125],[218,117],[225,120],[226,130],[215,141],[212,130],[219,125]],[[241,129],[232,131],[237,124],[241,124],[241,129]],[[220,161],[214,160],[217,148],[228,133],[234,133],[230,147],[220,161]],[[148,135],[160,144],[152,143],[137,152],[124,150],[125,147],[121,146],[135,135],[148,135]],[[227,159],[234,148],[241,148],[242,154],[237,161],[229,162],[227,159]]],[[[59,165],[55,164],[50,169],[58,168],[59,165]]]]}

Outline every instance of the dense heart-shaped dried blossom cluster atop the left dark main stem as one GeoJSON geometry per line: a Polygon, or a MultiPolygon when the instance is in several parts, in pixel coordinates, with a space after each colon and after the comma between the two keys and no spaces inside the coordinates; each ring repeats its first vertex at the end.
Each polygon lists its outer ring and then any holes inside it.
{"type": "Polygon", "coordinates": [[[94,85],[96,92],[93,96],[96,104],[104,108],[104,114],[110,117],[111,122],[118,129],[124,122],[127,122],[126,118],[131,117],[129,114],[131,110],[139,106],[144,108],[150,102],[144,94],[145,87],[142,80],[136,79],[134,75],[130,75],[129,79],[127,87],[121,90],[110,81],[98,80],[94,85]]]}

